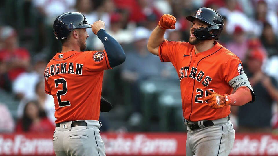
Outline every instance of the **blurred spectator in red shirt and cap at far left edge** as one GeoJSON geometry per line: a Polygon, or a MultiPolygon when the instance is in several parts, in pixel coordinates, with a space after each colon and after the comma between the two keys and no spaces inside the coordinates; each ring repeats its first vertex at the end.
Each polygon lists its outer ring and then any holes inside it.
{"type": "Polygon", "coordinates": [[[0,62],[6,64],[4,66],[8,78],[14,81],[19,74],[27,71],[30,55],[27,49],[19,47],[17,33],[12,27],[4,27],[0,38],[4,42],[4,47],[0,50],[0,62]]]}

